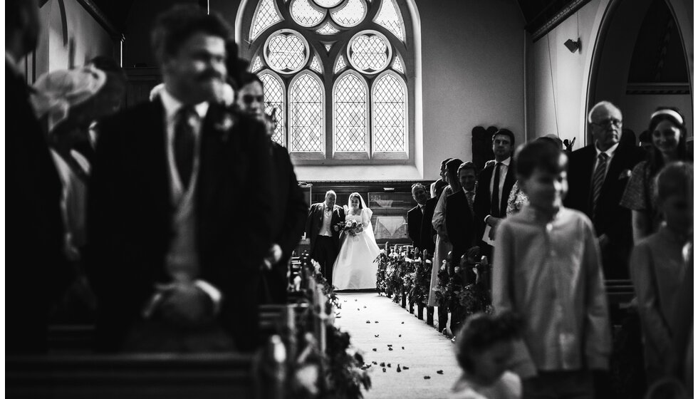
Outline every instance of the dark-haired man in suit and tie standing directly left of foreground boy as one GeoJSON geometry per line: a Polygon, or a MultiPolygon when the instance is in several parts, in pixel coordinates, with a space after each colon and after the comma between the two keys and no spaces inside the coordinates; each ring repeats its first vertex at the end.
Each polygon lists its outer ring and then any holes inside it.
{"type": "MultiPolygon", "coordinates": [[[[485,167],[477,177],[479,185],[473,205],[479,236],[477,239],[481,239],[488,228],[489,239],[494,239],[497,224],[506,217],[506,202],[509,199],[511,187],[514,187],[516,182],[514,171],[509,170],[513,151],[514,133],[508,129],[497,130],[492,136],[494,163],[485,167]]],[[[481,253],[491,259],[491,245],[481,242],[481,253]]]]}

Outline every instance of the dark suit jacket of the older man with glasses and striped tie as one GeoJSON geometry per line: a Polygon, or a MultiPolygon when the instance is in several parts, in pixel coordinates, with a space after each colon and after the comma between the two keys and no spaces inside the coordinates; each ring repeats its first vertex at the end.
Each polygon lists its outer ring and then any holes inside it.
{"type": "Polygon", "coordinates": [[[592,219],[596,234],[606,234],[609,244],[601,248],[603,270],[608,279],[627,279],[627,260],[632,249],[632,216],[620,206],[625,192],[628,172],[645,157],[640,147],[618,145],[608,167],[596,217],[593,217],[591,178],[596,165],[596,149],[588,145],[572,152],[567,172],[569,190],[564,204],[578,209],[592,219]]]}

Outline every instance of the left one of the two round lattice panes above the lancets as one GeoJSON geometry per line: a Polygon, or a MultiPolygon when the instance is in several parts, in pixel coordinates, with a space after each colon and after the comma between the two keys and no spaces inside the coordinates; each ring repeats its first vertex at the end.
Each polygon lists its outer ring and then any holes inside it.
{"type": "Polygon", "coordinates": [[[278,73],[296,73],[308,63],[308,41],[292,29],[272,33],[264,43],[264,59],[278,73]]]}

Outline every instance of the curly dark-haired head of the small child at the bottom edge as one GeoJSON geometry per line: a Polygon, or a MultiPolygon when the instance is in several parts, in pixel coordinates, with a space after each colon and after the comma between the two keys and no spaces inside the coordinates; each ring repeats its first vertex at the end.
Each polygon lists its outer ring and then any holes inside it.
{"type": "Polygon", "coordinates": [[[506,371],[521,331],[521,320],[511,312],[497,316],[474,314],[458,333],[456,358],[463,371],[484,385],[506,371]]]}

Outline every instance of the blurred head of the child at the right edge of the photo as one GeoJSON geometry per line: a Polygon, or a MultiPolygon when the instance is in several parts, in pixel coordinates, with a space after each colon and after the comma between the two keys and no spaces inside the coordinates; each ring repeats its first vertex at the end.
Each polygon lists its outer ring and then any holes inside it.
{"type": "Polygon", "coordinates": [[[667,227],[689,233],[693,227],[693,166],[688,162],[672,162],[657,175],[655,195],[657,209],[664,215],[667,227]]]}

